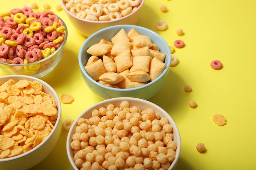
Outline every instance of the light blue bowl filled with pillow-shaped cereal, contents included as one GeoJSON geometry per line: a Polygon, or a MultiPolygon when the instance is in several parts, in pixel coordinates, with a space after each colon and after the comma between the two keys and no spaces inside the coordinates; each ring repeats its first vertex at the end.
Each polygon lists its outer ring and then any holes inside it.
{"type": "Polygon", "coordinates": [[[92,34],[78,60],[85,83],[101,99],[149,99],[168,77],[171,51],[154,31],[125,24],[92,34]]]}

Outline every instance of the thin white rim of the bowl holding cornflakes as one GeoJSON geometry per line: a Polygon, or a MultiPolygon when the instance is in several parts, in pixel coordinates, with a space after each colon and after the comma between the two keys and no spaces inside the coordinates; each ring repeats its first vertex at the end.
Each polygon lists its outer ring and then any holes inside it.
{"type": "MultiPolygon", "coordinates": [[[[52,88],[52,86],[50,86],[48,83],[46,83],[45,81],[39,79],[39,78],[36,78],[36,77],[32,77],[32,76],[29,76],[29,75],[6,75],[6,76],[2,76],[1,78],[9,78],[9,79],[12,79],[13,77],[21,77],[22,79],[34,79],[38,82],[40,82],[41,84],[43,84],[44,86],[47,86],[47,88],[49,88],[52,93],[58,97],[56,91],[52,88]]],[[[54,128],[52,129],[52,131],[50,132],[50,134],[45,138],[45,140],[43,140],[38,146],[36,146],[35,148],[25,152],[25,153],[22,153],[20,155],[17,155],[17,156],[14,156],[14,157],[10,157],[10,158],[3,158],[3,159],[0,159],[0,162],[6,162],[6,161],[12,161],[12,160],[15,160],[15,159],[19,159],[21,157],[24,157],[26,155],[29,155],[30,153],[34,152],[35,150],[37,150],[38,148],[40,148],[43,144],[46,143],[46,141],[53,135],[53,133],[55,132],[56,128],[57,128],[57,125],[59,123],[61,123],[61,102],[60,100],[57,100],[55,101],[56,103],[58,103],[58,106],[60,106],[58,108],[58,117],[56,119],[56,123],[54,125],[54,128]]]]}

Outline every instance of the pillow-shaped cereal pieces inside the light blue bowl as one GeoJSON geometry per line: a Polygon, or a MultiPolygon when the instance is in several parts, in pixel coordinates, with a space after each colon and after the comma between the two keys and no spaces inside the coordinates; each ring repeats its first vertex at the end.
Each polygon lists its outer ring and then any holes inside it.
{"type": "Polygon", "coordinates": [[[110,40],[100,40],[87,51],[91,57],[86,73],[112,88],[135,88],[154,81],[166,68],[166,54],[135,29],[118,31],[110,40]]]}

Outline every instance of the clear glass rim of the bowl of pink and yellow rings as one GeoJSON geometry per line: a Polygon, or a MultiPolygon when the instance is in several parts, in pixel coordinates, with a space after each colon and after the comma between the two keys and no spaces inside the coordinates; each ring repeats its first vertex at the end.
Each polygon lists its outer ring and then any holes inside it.
{"type": "MultiPolygon", "coordinates": [[[[56,16],[58,16],[58,15],[56,15],[56,16]]],[[[65,22],[58,16],[58,18],[59,18],[59,20],[61,20],[61,22],[63,23],[63,25],[65,26],[65,38],[64,38],[64,40],[63,40],[63,43],[61,44],[61,46],[56,50],[56,51],[54,51],[54,53],[52,53],[51,55],[49,55],[49,56],[47,56],[47,57],[45,57],[45,58],[43,58],[43,59],[41,59],[41,60],[38,60],[38,61],[36,61],[36,62],[30,62],[30,63],[28,63],[28,64],[9,64],[9,63],[5,63],[5,62],[0,62],[0,64],[2,64],[2,65],[7,65],[7,66],[29,66],[29,65],[34,65],[34,64],[38,64],[38,63],[41,63],[41,62],[43,62],[43,61],[45,61],[45,60],[48,60],[48,59],[50,59],[50,58],[52,58],[54,55],[56,55],[56,53],[58,53],[58,51],[61,51],[61,49],[63,48],[63,46],[65,46],[65,43],[66,43],[66,41],[67,41],[67,26],[66,26],[66,24],[65,24],[65,22]]]]}

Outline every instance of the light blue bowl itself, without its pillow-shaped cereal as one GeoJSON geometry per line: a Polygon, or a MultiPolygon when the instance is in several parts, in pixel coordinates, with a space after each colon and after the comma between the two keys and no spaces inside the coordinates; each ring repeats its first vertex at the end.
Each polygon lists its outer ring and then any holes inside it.
{"type": "Polygon", "coordinates": [[[141,99],[149,99],[162,88],[168,77],[171,64],[171,51],[167,42],[159,34],[155,33],[150,29],[137,25],[115,25],[101,29],[92,34],[89,38],[87,38],[79,51],[78,62],[81,73],[83,75],[83,79],[85,80],[88,88],[90,88],[90,90],[101,99],[110,99],[114,97],[136,97],[141,99]],[[122,28],[126,31],[126,33],[134,28],[142,35],[147,35],[148,37],[150,37],[153,43],[157,44],[157,46],[159,47],[159,51],[166,54],[164,61],[166,64],[166,68],[164,69],[163,73],[159,77],[157,77],[157,79],[144,86],[129,89],[103,86],[102,84],[94,81],[84,69],[84,66],[86,65],[89,57],[91,56],[86,52],[86,50],[93,44],[99,43],[101,39],[110,41],[111,38],[122,28]]]}

